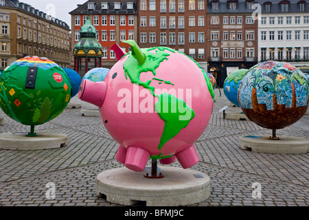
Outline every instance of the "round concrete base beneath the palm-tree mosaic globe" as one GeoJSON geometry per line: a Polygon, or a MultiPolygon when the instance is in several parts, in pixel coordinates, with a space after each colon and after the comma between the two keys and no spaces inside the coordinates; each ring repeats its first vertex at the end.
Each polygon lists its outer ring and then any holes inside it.
{"type": "Polygon", "coordinates": [[[309,140],[301,137],[279,136],[280,140],[269,140],[270,136],[239,137],[240,148],[258,153],[300,154],[309,152],[309,140]]]}

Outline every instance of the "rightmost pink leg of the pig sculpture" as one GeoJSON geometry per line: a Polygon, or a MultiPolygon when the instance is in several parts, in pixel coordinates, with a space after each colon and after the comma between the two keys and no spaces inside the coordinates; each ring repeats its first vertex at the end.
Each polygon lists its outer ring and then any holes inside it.
{"type": "Polygon", "coordinates": [[[183,151],[176,153],[175,156],[184,169],[193,166],[200,160],[193,144],[183,151]]]}

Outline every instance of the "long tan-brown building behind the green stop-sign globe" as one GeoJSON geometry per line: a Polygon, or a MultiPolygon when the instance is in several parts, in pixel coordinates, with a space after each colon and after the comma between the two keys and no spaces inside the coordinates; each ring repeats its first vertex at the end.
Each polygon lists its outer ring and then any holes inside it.
{"type": "Polygon", "coordinates": [[[71,49],[67,23],[26,3],[1,0],[0,28],[0,69],[25,56],[44,56],[63,68],[69,67],[71,49]]]}

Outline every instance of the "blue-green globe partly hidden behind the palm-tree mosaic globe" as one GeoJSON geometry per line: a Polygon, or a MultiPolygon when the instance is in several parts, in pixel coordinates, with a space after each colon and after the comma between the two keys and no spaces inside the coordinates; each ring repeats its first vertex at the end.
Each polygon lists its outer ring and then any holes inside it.
{"type": "Polygon", "coordinates": [[[223,83],[223,91],[225,91],[225,96],[230,102],[238,107],[240,107],[238,102],[238,87],[242,78],[244,78],[244,75],[246,75],[248,71],[249,69],[235,70],[227,76],[225,83],[223,83]]]}

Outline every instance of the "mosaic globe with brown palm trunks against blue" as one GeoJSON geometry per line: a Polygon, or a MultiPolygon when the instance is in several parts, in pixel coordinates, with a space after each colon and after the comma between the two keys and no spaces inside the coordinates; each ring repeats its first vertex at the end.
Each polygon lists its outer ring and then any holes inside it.
{"type": "Polygon", "coordinates": [[[306,113],[308,80],[289,63],[266,61],[244,76],[238,100],[244,113],[256,124],[266,129],[283,129],[306,113]]]}

